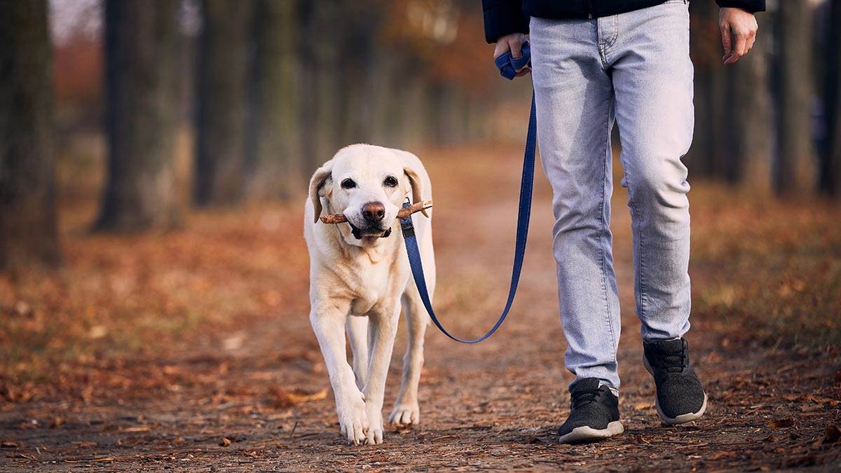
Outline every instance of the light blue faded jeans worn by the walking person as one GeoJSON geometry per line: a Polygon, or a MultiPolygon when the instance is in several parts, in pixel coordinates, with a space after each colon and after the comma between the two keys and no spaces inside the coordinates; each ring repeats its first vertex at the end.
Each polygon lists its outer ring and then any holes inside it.
{"type": "Polygon", "coordinates": [[[633,231],[643,339],[689,330],[693,68],[685,0],[600,19],[532,18],[532,80],[543,169],[553,188],[553,252],[576,380],[619,389],[619,299],[611,255],[611,129],[633,231]]]}

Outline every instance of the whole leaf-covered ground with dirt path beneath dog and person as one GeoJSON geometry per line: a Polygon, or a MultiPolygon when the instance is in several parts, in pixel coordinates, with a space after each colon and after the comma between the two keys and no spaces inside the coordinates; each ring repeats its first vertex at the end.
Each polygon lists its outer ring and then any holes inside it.
{"type": "MultiPolygon", "coordinates": [[[[520,151],[421,153],[435,186],[436,306],[478,335],[503,306],[520,151]]],[[[540,173],[538,171],[538,173],[540,173]]],[[[614,197],[626,433],[557,443],[569,411],[547,186],[521,290],[488,342],[430,327],[421,425],[338,433],[308,321],[301,203],[92,235],[62,208],[64,268],[0,277],[0,470],[768,470],[841,466],[841,206],[694,183],[690,347],[705,417],[666,428],[640,356],[626,194],[614,197]]],[[[389,401],[399,380],[398,336],[389,401]]]]}

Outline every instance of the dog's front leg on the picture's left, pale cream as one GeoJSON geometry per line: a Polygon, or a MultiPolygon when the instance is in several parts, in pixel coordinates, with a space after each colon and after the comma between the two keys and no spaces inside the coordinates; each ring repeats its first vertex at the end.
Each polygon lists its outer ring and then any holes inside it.
{"type": "Polygon", "coordinates": [[[309,314],[321,354],[327,364],[333,395],[336,396],[336,414],[341,433],[348,443],[358,445],[368,434],[368,414],[365,397],[357,388],[351,365],[347,364],[345,351],[346,311],[337,307],[315,308],[309,314]]]}

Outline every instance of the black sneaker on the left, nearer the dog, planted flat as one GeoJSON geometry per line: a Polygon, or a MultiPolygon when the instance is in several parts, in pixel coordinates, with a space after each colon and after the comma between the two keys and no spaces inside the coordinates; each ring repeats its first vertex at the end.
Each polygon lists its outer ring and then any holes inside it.
{"type": "Polygon", "coordinates": [[[608,438],[625,432],[619,422],[619,401],[598,378],[584,378],[569,388],[570,412],[558,428],[562,444],[608,438]]]}

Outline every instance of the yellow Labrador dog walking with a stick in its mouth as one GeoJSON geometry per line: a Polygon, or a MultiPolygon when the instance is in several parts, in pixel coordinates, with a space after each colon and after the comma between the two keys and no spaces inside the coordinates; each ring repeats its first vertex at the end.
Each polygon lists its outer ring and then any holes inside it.
{"type": "MultiPolygon", "coordinates": [[[[383,394],[402,306],[409,327],[403,381],[389,422],[418,423],[418,383],[429,316],[410,279],[397,212],[406,197],[431,199],[421,160],[407,151],[352,145],[309,181],[304,237],[309,248],[309,321],[324,355],[341,433],[352,444],[383,442],[383,394]],[[347,223],[324,224],[322,214],[347,223]],[[345,333],[353,352],[347,363],[345,333]]],[[[415,214],[430,295],[435,288],[431,210],[415,214]]]]}

